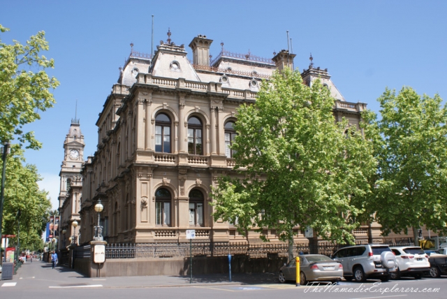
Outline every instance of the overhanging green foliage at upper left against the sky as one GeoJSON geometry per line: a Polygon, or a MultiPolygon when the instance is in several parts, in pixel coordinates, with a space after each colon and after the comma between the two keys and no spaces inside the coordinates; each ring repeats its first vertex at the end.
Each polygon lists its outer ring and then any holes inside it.
{"type": "MultiPolygon", "coordinates": [[[[9,29],[1,26],[0,32],[9,29]]],[[[41,147],[34,138],[34,132],[24,132],[24,124],[40,119],[39,111],[51,108],[55,103],[50,89],[59,86],[55,78],[50,78],[45,68],[53,68],[53,59],[39,56],[48,50],[45,32],[31,36],[26,45],[14,41],[6,45],[0,40],[0,141],[17,138],[20,145],[28,148],[41,147]],[[35,71],[32,71],[34,69],[35,71]]]]}

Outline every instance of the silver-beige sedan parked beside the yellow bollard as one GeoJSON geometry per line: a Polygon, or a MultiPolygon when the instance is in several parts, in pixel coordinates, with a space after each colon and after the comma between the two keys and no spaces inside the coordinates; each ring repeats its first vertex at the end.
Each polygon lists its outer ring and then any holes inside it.
{"type": "MultiPolygon", "coordinates": [[[[284,283],[287,280],[296,281],[295,258],[289,261],[287,265],[279,269],[279,282],[284,283]]],[[[343,277],[343,266],[337,261],[333,261],[328,256],[321,254],[302,254],[300,255],[300,284],[306,285],[307,282],[339,282],[343,277]]]]}

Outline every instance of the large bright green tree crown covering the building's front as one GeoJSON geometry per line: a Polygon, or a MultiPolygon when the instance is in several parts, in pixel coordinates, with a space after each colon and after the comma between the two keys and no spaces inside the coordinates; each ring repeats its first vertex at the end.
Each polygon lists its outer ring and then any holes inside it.
{"type": "Polygon", "coordinates": [[[369,191],[375,169],[372,145],[355,126],[336,123],[334,99],[317,80],[303,84],[298,71],[275,73],[254,105],[237,110],[232,149],[239,178],[221,177],[213,190],[214,219],[241,233],[271,228],[291,240],[293,228],[351,242],[364,212],[354,203],[369,191]]]}

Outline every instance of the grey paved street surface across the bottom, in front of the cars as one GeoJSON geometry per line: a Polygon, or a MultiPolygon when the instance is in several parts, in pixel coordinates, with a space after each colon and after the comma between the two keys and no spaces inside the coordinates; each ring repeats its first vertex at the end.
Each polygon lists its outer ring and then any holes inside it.
{"type": "Polygon", "coordinates": [[[34,261],[24,264],[14,279],[0,281],[0,298],[447,298],[447,277],[299,287],[277,283],[273,273],[232,278],[193,275],[192,283],[189,277],[170,276],[91,278],[34,261]]]}

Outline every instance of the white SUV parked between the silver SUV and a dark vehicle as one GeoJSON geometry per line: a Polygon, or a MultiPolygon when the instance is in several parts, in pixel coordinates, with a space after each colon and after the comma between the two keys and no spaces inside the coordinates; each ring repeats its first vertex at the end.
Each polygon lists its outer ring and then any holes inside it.
{"type": "Polygon", "coordinates": [[[428,255],[416,246],[391,247],[397,261],[397,271],[390,273],[391,279],[399,279],[402,275],[410,275],[421,279],[423,272],[430,270],[428,255]]]}

